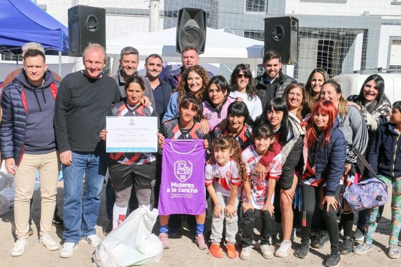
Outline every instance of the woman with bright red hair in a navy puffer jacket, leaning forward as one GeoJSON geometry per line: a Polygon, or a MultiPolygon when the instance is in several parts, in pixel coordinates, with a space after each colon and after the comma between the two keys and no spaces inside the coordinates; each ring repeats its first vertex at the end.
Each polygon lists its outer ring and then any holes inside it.
{"type": "Polygon", "coordinates": [[[301,178],[301,247],[295,255],[306,258],[309,252],[312,217],[315,206],[319,205],[320,221],[325,221],[331,243],[331,254],[325,261],[325,266],[338,266],[341,260],[336,213],[347,147],[344,135],[338,128],[337,114],[337,108],[331,101],[322,100],[313,107],[311,117],[302,123],[306,135],[303,148],[304,171],[301,178]]]}

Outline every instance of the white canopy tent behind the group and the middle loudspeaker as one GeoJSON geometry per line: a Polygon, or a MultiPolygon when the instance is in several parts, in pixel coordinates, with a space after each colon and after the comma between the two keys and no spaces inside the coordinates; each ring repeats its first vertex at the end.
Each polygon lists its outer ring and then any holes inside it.
{"type": "MultiPolygon", "coordinates": [[[[133,32],[113,40],[107,40],[107,55],[113,58],[112,73],[119,66],[120,51],[132,46],[139,51],[139,60],[150,54],[159,54],[165,62],[181,62],[181,54],[175,50],[176,28],[157,32],[133,32]]],[[[224,29],[207,28],[205,53],[200,55],[202,63],[249,64],[253,74],[262,63],[264,43],[246,37],[227,33],[224,29]]]]}

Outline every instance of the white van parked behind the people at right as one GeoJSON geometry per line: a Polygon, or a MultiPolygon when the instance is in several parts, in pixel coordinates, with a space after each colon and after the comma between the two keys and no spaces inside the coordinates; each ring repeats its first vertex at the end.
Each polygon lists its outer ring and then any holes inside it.
{"type": "Polygon", "coordinates": [[[342,73],[333,79],[341,85],[345,98],[359,94],[363,82],[372,74],[380,75],[385,81],[385,93],[391,104],[401,100],[401,69],[368,69],[356,70],[353,73],[342,73]]]}

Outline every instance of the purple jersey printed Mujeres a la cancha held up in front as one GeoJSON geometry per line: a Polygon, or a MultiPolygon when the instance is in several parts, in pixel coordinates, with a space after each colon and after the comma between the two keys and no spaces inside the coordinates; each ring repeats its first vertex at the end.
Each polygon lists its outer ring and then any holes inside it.
{"type": "Polygon", "coordinates": [[[206,149],[203,139],[165,139],[161,166],[159,214],[203,214],[206,149]]]}

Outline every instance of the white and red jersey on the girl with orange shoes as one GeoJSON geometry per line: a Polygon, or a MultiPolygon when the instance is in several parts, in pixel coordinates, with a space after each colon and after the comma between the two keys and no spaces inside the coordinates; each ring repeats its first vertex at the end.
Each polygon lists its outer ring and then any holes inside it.
{"type": "MultiPolygon", "coordinates": [[[[231,195],[232,186],[240,185],[240,177],[237,164],[233,158],[226,165],[220,166],[215,164],[206,164],[205,167],[205,184],[213,184],[214,190],[223,196],[231,195]]],[[[242,187],[238,188],[237,197],[241,197],[242,187]]]]}

